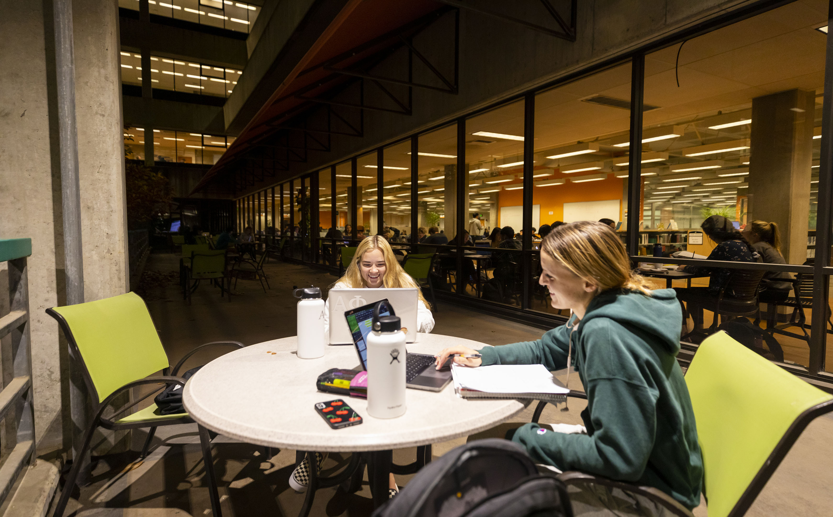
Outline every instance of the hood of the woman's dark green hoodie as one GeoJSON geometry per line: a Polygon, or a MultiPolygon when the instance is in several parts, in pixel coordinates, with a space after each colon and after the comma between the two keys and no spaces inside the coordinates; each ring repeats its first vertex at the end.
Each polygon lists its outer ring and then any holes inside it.
{"type": "Polygon", "coordinates": [[[682,310],[673,289],[651,291],[651,296],[634,291],[605,291],[587,306],[584,319],[576,331],[581,331],[581,327],[593,318],[608,318],[622,326],[656,336],[671,355],[680,351],[682,310]]]}

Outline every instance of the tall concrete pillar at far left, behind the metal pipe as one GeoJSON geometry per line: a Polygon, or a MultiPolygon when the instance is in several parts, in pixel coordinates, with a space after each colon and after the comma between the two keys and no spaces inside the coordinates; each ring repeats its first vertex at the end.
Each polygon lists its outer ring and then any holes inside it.
{"type": "MultiPolygon", "coordinates": [[[[51,2],[3,3],[0,236],[31,237],[29,295],[38,449],[68,445],[67,352],[44,311],[65,303],[51,2]],[[21,66],[25,63],[25,66],[21,66]],[[66,436],[66,438],[65,438],[66,436]]],[[[87,301],[127,291],[116,0],[76,0],[78,159],[87,301]]]]}

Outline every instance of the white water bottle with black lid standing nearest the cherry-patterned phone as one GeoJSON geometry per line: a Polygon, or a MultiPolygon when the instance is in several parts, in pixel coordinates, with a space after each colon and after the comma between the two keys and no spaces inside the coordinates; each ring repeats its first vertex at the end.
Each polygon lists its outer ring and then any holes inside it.
{"type": "Polygon", "coordinates": [[[375,418],[405,414],[407,351],[401,329],[398,316],[378,316],[367,334],[367,413],[375,418]]]}

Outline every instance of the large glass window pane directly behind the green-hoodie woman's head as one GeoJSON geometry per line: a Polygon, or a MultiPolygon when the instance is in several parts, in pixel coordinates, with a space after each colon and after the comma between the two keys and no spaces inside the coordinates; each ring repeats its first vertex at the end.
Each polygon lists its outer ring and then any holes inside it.
{"type": "MultiPolygon", "coordinates": [[[[627,167],[613,167],[611,162],[611,153],[621,153],[621,148],[596,142],[607,132],[628,130],[631,112],[621,105],[626,106],[630,96],[630,62],[536,96],[532,226],[538,236],[545,236],[552,226],[562,222],[602,218],[624,221],[627,167]],[[618,99],[620,104],[613,107],[588,102],[594,98],[618,99]],[[614,172],[617,169],[624,172],[614,172]]],[[[520,204],[522,189],[520,185],[511,185],[514,184],[504,186],[501,196],[506,196],[506,190],[518,188],[512,192],[515,202],[520,204]]],[[[623,227],[620,235],[624,241],[623,227]]],[[[533,238],[533,249],[537,250],[539,241],[533,238]]],[[[546,287],[538,285],[541,275],[538,252],[532,256],[530,271],[529,307],[533,311],[566,314],[550,305],[546,287]]]]}

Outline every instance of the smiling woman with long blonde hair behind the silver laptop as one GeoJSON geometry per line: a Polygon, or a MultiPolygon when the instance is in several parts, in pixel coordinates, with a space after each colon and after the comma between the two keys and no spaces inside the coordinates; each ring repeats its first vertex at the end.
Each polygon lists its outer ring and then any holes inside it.
{"type": "MultiPolygon", "coordinates": [[[[360,289],[363,287],[416,287],[416,331],[431,332],[434,328],[434,316],[422,290],[416,281],[399,265],[391,245],[384,236],[366,237],[356,248],[356,254],[347,271],[335,284],[333,289],[360,289]]],[[[330,331],[330,301],[324,309],[324,334],[330,331]]]]}

